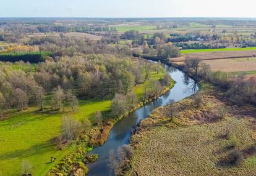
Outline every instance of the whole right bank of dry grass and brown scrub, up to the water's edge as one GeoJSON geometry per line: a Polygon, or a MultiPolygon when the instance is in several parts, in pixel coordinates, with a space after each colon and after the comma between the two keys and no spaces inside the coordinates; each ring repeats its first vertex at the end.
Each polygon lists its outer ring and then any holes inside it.
{"type": "Polygon", "coordinates": [[[126,175],[256,174],[256,129],[250,113],[255,107],[231,106],[223,90],[203,82],[201,87],[200,106],[194,97],[185,98],[177,102],[173,120],[169,106],[163,106],[140,122],[130,138],[135,151],[126,175]],[[237,153],[240,158],[233,163],[237,153]]]}

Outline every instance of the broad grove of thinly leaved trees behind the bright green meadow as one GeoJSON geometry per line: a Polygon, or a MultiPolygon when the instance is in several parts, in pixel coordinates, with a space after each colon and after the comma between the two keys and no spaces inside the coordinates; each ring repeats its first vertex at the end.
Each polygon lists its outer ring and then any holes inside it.
{"type": "MultiPolygon", "coordinates": [[[[29,65],[29,64],[27,64],[29,65]]],[[[77,106],[75,95],[85,98],[112,98],[116,93],[126,95],[135,84],[148,79],[150,71],[160,71],[161,64],[118,58],[114,55],[84,55],[62,57],[36,66],[36,71],[0,68],[0,109],[38,104],[43,109],[45,95],[50,95],[53,110],[77,106]]]]}

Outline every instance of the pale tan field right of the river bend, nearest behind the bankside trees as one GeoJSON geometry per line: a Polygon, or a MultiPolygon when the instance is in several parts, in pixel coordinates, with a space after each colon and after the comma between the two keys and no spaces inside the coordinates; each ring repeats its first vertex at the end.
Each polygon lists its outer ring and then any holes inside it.
{"type": "Polygon", "coordinates": [[[203,63],[210,65],[212,71],[250,71],[250,74],[255,74],[256,70],[256,58],[225,58],[218,60],[204,60],[203,63]]]}

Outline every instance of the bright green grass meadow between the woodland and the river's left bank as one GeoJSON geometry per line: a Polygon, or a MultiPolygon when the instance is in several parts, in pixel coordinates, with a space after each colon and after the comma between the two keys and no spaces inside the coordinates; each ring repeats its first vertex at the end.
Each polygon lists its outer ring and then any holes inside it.
{"type": "MultiPolygon", "coordinates": [[[[150,73],[150,79],[158,80],[161,77],[160,73],[150,73]]],[[[142,96],[143,88],[139,87],[135,87],[135,92],[142,96]]],[[[49,102],[46,105],[49,106],[49,102]]],[[[108,117],[111,113],[111,100],[80,100],[79,110],[75,112],[65,108],[61,113],[38,113],[38,108],[32,107],[11,113],[9,118],[0,121],[0,175],[20,175],[22,160],[32,164],[33,175],[45,175],[73,150],[72,146],[57,150],[54,143],[54,138],[60,134],[62,116],[73,116],[81,122],[88,119],[93,127],[97,110],[103,113],[104,118],[108,117]],[[51,156],[56,158],[53,164],[49,163],[51,156]]]]}

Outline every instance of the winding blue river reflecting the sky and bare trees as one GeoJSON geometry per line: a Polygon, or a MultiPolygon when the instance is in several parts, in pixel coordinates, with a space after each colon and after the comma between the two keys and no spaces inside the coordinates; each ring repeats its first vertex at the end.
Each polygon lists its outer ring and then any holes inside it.
{"type": "Polygon", "coordinates": [[[111,129],[109,132],[107,142],[102,146],[94,148],[93,151],[90,152],[90,154],[98,153],[98,160],[92,164],[88,164],[88,169],[90,170],[88,175],[111,175],[108,166],[109,151],[117,150],[119,146],[128,144],[130,134],[140,120],[147,118],[151,111],[153,111],[155,108],[167,105],[171,99],[177,102],[197,92],[197,84],[185,73],[172,66],[164,65],[164,67],[171,77],[176,81],[173,89],[157,98],[154,102],[142,106],[142,108],[139,108],[126,118],[123,118],[121,121],[114,124],[113,129],[111,129]]]}

